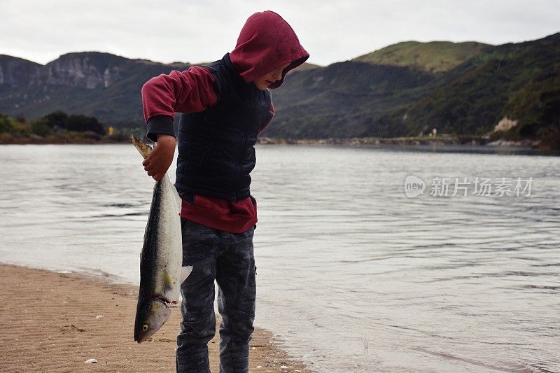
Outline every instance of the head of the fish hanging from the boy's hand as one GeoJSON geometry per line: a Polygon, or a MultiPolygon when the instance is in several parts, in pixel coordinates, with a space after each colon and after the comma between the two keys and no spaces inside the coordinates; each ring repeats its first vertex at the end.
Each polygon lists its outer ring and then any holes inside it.
{"type": "Polygon", "coordinates": [[[138,343],[146,341],[155,334],[171,316],[167,304],[159,298],[153,298],[138,304],[134,323],[134,340],[138,343]]]}

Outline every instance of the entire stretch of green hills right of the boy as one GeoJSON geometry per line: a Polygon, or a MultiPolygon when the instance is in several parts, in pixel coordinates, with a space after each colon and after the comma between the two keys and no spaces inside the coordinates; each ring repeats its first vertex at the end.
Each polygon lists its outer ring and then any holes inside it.
{"type": "Polygon", "coordinates": [[[518,122],[512,136],[542,138],[542,131],[560,128],[559,76],[560,33],[498,46],[399,43],[293,73],[274,92],[279,111],[265,134],[417,136],[433,128],[482,134],[507,116],[518,122]]]}

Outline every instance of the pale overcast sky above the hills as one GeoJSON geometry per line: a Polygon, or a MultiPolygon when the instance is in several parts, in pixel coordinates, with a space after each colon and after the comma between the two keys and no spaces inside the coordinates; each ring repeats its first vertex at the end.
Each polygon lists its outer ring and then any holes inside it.
{"type": "Polygon", "coordinates": [[[321,65],[399,41],[500,44],[560,31],[559,0],[0,0],[0,54],[41,64],[86,50],[209,62],[261,10],[282,15],[321,65]]]}

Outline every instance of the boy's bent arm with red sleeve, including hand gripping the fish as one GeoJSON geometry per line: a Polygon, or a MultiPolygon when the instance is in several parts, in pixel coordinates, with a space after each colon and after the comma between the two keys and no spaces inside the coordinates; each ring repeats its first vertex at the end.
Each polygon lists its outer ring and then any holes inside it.
{"type": "Polygon", "coordinates": [[[154,180],[161,180],[173,162],[176,112],[197,113],[216,103],[214,76],[202,67],[172,71],[151,78],[142,87],[146,136],[157,145],[142,163],[154,180]]]}

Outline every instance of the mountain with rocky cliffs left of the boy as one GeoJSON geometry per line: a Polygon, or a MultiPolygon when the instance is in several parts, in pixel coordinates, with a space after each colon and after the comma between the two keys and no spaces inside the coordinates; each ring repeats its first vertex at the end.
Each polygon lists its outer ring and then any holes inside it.
{"type": "Polygon", "coordinates": [[[106,125],[143,125],[146,80],[189,64],[160,64],[102,52],[62,55],[46,65],[0,55],[0,113],[37,118],[56,110],[106,125]]]}

